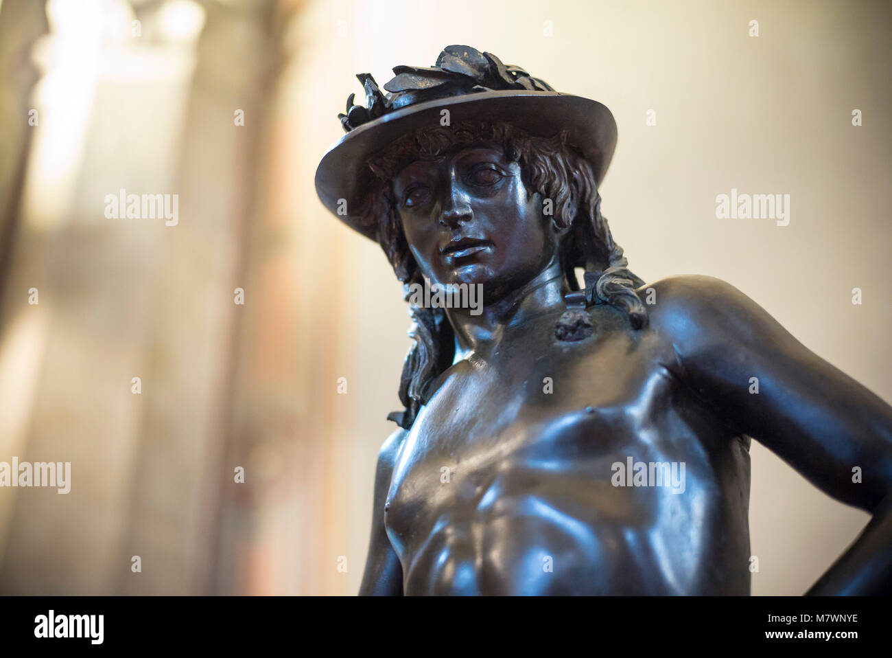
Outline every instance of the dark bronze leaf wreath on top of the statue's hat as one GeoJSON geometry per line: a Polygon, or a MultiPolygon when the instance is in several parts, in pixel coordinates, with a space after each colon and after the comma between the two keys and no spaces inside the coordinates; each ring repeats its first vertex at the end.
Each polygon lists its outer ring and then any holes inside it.
{"type": "Polygon", "coordinates": [[[347,98],[347,113],[338,114],[344,132],[401,107],[449,96],[508,89],[554,91],[519,66],[506,66],[494,54],[470,46],[446,46],[433,67],[395,66],[393,73],[396,77],[384,85],[387,93],[371,73],[356,76],[366,90],[366,106],[353,103],[355,94],[347,98]]]}

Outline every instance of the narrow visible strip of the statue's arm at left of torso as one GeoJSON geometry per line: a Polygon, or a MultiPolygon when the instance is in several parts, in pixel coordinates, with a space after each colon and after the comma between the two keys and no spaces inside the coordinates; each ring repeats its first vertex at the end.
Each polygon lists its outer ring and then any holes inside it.
{"type": "Polygon", "coordinates": [[[359,586],[359,596],[402,595],[402,566],[384,529],[384,503],[387,491],[390,489],[393,463],[405,435],[405,429],[396,430],[387,437],[378,452],[375,499],[372,505],[372,532],[368,542],[366,570],[359,586]]]}

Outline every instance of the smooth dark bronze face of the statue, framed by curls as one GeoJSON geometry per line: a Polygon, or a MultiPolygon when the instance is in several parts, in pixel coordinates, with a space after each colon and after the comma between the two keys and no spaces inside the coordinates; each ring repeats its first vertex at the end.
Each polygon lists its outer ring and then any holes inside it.
{"type": "Polygon", "coordinates": [[[498,301],[557,253],[541,196],[499,146],[412,162],[393,179],[393,193],[412,255],[432,283],[483,284],[484,301],[498,301]]]}

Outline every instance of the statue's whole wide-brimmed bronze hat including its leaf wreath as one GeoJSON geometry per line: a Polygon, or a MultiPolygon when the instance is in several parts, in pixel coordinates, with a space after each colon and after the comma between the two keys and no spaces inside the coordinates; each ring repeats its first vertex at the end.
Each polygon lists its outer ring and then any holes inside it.
{"type": "Polygon", "coordinates": [[[450,125],[466,120],[506,121],[537,137],[567,132],[567,142],[591,162],[600,184],[616,147],[616,121],[603,104],[559,94],[541,79],[506,66],[491,53],[469,46],[447,46],[432,68],[394,67],[395,78],[378,88],[368,73],[357,78],[367,105],[347,99],[339,114],[347,134],[322,156],[316,191],[326,208],[366,237],[377,239],[377,223],[362,221],[361,211],[375,176],[368,159],[419,128],[439,128],[442,111],[450,125]]]}

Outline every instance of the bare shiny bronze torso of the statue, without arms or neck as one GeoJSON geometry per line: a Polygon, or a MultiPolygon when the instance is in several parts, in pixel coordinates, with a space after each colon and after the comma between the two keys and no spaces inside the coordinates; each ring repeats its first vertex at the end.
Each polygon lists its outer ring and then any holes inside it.
{"type": "Polygon", "coordinates": [[[749,594],[748,438],[698,402],[658,328],[591,316],[578,342],[555,339],[556,315],[507,329],[438,381],[387,496],[405,594],[749,594]],[[683,462],[683,492],[614,486],[635,481],[616,472],[629,458],[668,463],[648,476],[683,462]]]}

